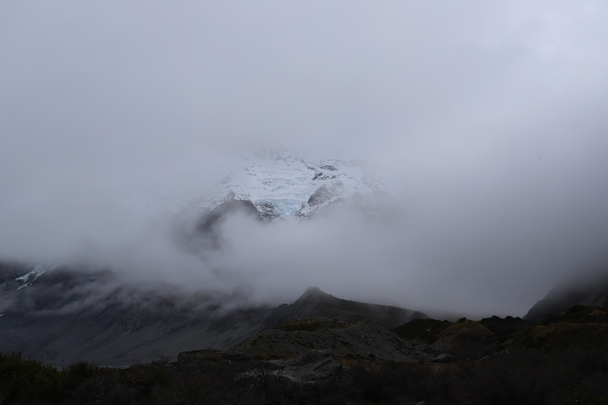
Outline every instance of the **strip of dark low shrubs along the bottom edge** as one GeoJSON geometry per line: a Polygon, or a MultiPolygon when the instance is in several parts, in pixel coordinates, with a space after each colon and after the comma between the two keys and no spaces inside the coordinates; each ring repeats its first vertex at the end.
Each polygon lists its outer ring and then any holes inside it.
{"type": "Polygon", "coordinates": [[[9,353],[2,355],[0,403],[599,405],[608,404],[607,364],[604,351],[582,349],[521,350],[456,367],[353,359],[335,378],[295,384],[255,361],[128,369],[80,362],[58,371],[9,353]],[[246,370],[259,378],[240,378],[246,370]]]}

